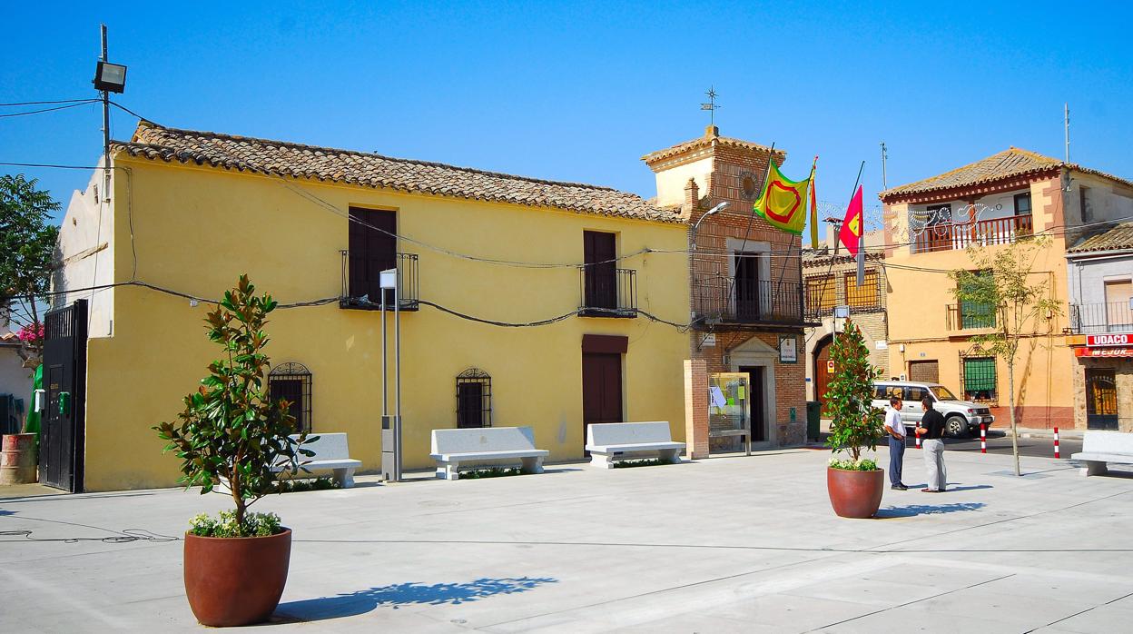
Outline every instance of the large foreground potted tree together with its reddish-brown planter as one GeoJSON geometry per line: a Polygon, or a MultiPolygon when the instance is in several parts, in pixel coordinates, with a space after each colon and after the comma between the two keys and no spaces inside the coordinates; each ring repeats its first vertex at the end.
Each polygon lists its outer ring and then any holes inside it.
{"type": "Polygon", "coordinates": [[[221,358],[185,397],[179,422],[153,428],[169,442],[165,451],[181,458],[180,482],[201,487],[202,494],[231,496],[236,507],[219,517],[194,517],[185,534],[185,592],[204,625],[265,620],[287,583],[291,530],[273,513],[248,512],[279,491],[279,467],[300,468],[299,456],[313,455],[301,448],[306,433],[290,436],[296,425],[289,404],[265,394],[263,327],[275,305],[270,295],[256,297],[248,277],[240,276],[205,320],[208,339],[223,348],[221,358]]]}

